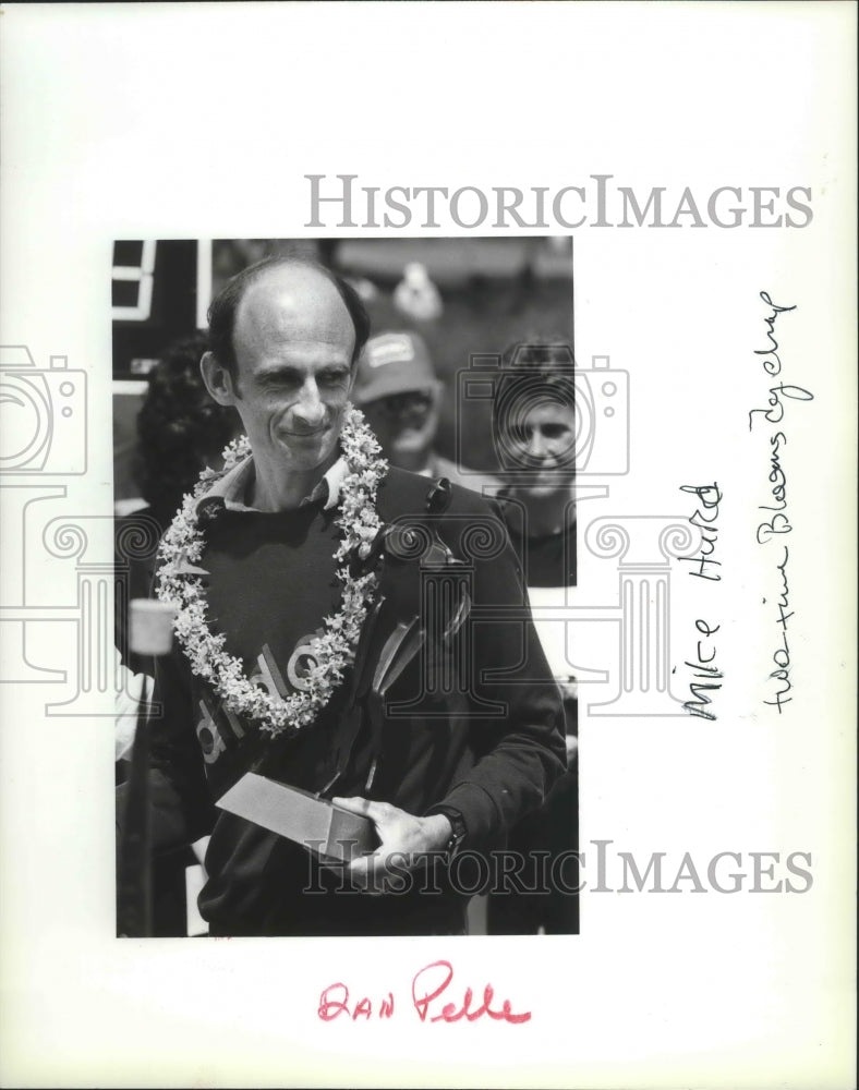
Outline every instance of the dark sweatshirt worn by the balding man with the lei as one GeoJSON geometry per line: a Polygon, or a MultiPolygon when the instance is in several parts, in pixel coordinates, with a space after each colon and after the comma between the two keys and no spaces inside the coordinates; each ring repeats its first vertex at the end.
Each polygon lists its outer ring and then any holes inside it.
{"type": "MultiPolygon", "coordinates": [[[[379,488],[377,509],[385,532],[365,564],[379,586],[354,669],[298,737],[271,739],[247,724],[237,731],[180,649],[158,662],[154,839],[168,847],[211,833],[201,911],[216,933],[310,933],[312,923],[324,933],[349,933],[352,924],[368,931],[368,918],[355,922],[367,916],[367,903],[373,919],[384,921],[382,903],[391,900],[353,898],[338,907],[331,897],[302,896],[306,853],[213,806],[249,770],[324,797],[360,795],[414,814],[455,808],[467,827],[462,848],[477,851],[501,847],[564,771],[560,698],[501,520],[465,489],[397,469],[379,488]],[[440,513],[427,510],[445,505],[440,513]],[[220,732],[215,761],[210,752],[206,759],[209,728],[220,732]]],[[[207,531],[201,566],[213,571],[213,583],[218,571],[226,580],[253,562],[253,546],[237,544],[244,524],[250,531],[250,514],[232,513],[207,531]]],[[[330,532],[330,555],[334,526],[323,519],[317,529],[322,540],[330,532]]],[[[256,594],[262,613],[277,586],[269,582],[256,594]]],[[[227,650],[237,653],[229,641],[227,650]]],[[[391,912],[420,915],[428,904],[432,915],[451,896],[445,888],[432,904],[400,898],[391,912]]]]}

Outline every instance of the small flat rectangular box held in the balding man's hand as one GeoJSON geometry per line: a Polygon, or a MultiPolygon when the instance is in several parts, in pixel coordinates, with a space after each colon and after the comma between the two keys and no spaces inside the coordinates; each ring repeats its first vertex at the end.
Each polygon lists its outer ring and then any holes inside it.
{"type": "Polygon", "coordinates": [[[255,772],[245,773],[216,806],[341,862],[379,846],[370,818],[255,772]]]}

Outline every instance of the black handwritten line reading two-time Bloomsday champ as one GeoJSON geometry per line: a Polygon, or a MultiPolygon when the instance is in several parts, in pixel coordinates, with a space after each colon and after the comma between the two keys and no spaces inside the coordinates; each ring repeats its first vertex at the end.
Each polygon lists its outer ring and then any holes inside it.
{"type": "MultiPolygon", "coordinates": [[[[776,324],[783,315],[796,311],[796,305],[781,306],[774,303],[770,294],[765,291],[760,292],[760,298],[769,311],[764,317],[766,340],[769,343],[764,348],[755,349],[754,354],[760,356],[761,366],[767,378],[777,378],[779,382],[770,386],[766,408],[752,409],[749,413],[749,431],[753,432],[755,427],[765,431],[770,448],[769,495],[765,502],[758,505],[758,509],[765,513],[762,516],[762,521],[758,524],[755,541],[760,546],[774,554],[777,571],[777,597],[769,610],[769,613],[774,615],[774,623],[776,626],[776,647],[772,655],[775,669],[770,673],[769,678],[773,682],[774,691],[772,692],[772,699],[765,699],[764,703],[775,705],[781,715],[783,705],[793,700],[788,695],[793,688],[790,681],[788,622],[794,616],[794,611],[790,609],[790,584],[788,580],[790,550],[786,541],[786,535],[793,533],[794,526],[788,513],[788,482],[785,468],[782,464],[782,456],[788,445],[788,404],[794,401],[813,401],[814,396],[801,386],[794,386],[786,383],[782,374],[783,363],[779,355],[778,340],[775,336],[776,324]]],[[[764,597],[763,604],[770,605],[770,601],[764,597]]]]}

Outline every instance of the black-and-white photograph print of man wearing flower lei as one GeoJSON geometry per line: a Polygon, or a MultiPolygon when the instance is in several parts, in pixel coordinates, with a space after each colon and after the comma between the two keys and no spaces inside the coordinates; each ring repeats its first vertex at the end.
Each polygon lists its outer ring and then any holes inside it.
{"type": "Polygon", "coordinates": [[[119,934],[576,933],[571,239],[113,259],[119,934]]]}

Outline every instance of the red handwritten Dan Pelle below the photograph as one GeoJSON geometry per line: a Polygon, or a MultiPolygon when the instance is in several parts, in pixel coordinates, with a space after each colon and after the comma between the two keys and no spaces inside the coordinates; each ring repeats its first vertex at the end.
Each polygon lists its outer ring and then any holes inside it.
{"type": "MultiPolygon", "coordinates": [[[[422,1022],[455,1022],[462,1018],[473,1022],[485,1017],[516,1026],[531,1020],[530,1010],[515,1014],[509,1000],[504,1000],[500,1007],[494,1009],[495,989],[492,984],[486,984],[480,1006],[472,1009],[473,990],[469,986],[462,994],[461,1001],[453,1000],[451,994],[455,990],[450,988],[452,980],[453,966],[449,961],[432,961],[414,974],[411,988],[412,1009],[422,1022]],[[447,1001],[444,1004],[441,1004],[443,997],[447,1001]]],[[[395,1010],[396,1001],[392,992],[379,998],[375,1006],[377,1018],[390,1018],[395,1010]]],[[[329,984],[322,993],[316,1013],[323,1021],[334,1021],[341,1015],[358,1021],[359,1018],[372,1018],[374,1005],[366,995],[358,1000],[350,998],[347,985],[338,981],[329,984]]]]}

